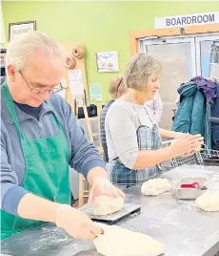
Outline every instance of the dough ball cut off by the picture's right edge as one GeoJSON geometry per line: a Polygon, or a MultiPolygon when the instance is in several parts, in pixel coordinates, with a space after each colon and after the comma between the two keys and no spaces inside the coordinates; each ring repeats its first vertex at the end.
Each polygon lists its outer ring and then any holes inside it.
{"type": "Polygon", "coordinates": [[[219,191],[207,191],[196,199],[196,203],[204,211],[219,211],[219,191]]]}

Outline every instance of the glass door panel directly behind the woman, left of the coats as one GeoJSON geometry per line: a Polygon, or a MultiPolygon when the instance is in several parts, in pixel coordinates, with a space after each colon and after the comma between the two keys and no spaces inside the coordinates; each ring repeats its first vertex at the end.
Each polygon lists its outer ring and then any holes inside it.
{"type": "Polygon", "coordinates": [[[160,127],[171,129],[173,110],[178,96],[177,89],[183,82],[196,75],[194,37],[162,37],[145,39],[141,52],[156,56],[163,64],[160,96],[164,104],[160,127]]]}

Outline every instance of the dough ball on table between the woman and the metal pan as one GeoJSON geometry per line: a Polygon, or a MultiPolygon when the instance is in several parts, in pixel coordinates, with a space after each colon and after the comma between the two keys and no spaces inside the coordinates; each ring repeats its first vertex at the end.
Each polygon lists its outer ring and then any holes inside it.
{"type": "Polygon", "coordinates": [[[145,196],[157,196],[169,191],[171,185],[167,179],[151,179],[142,184],[141,191],[145,196]]]}

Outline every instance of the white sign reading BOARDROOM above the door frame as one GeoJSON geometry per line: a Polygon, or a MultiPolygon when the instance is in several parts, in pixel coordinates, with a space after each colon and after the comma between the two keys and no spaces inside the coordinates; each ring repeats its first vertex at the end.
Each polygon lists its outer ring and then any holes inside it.
{"type": "Polygon", "coordinates": [[[155,29],[219,23],[219,11],[155,18],[155,29]]]}

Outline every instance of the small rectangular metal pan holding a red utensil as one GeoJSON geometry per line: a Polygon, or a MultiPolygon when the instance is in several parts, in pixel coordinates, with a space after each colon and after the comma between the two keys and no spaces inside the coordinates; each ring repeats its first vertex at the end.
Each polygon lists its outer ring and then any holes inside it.
{"type": "Polygon", "coordinates": [[[188,177],[180,180],[176,186],[175,195],[181,200],[195,200],[207,191],[198,188],[182,188],[181,184],[190,184],[193,182],[199,182],[201,185],[206,183],[207,179],[204,177],[188,177]]]}

